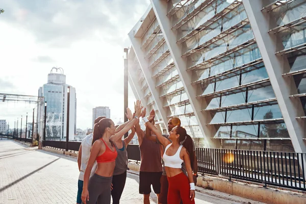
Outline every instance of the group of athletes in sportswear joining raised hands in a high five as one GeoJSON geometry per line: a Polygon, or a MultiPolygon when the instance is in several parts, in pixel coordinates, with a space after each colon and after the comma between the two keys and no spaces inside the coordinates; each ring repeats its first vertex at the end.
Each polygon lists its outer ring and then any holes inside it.
{"type": "Polygon", "coordinates": [[[155,126],[155,111],[146,117],[139,100],[135,103],[135,113],[127,108],[126,117],[129,121],[119,126],[109,118],[96,118],[93,133],[83,139],[78,154],[77,203],[111,203],[111,197],[113,203],[119,203],[129,169],[126,147],[135,133],[141,156],[139,193],[144,196],[144,204],[150,203],[151,185],[159,203],[194,203],[195,146],[181,127],[180,119],[171,118],[169,135],[162,135],[155,126]],[[140,117],[145,122],[145,131],[140,128],[140,117]],[[123,139],[130,130],[129,136],[123,139]]]}

